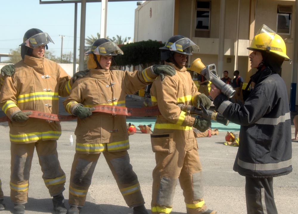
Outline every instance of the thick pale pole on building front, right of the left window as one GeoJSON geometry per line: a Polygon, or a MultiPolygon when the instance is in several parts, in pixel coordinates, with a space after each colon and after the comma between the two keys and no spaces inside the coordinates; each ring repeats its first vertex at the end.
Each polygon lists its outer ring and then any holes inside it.
{"type": "Polygon", "coordinates": [[[223,75],[224,68],[224,25],[226,16],[226,0],[221,0],[221,14],[219,26],[219,48],[218,48],[218,76],[223,75]]]}

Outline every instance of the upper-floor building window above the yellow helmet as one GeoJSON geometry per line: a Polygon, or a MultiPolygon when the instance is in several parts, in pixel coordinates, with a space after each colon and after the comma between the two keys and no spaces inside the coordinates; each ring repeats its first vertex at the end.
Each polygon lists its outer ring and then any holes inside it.
{"type": "Polygon", "coordinates": [[[292,5],[278,5],[277,7],[277,34],[291,35],[292,5]]]}

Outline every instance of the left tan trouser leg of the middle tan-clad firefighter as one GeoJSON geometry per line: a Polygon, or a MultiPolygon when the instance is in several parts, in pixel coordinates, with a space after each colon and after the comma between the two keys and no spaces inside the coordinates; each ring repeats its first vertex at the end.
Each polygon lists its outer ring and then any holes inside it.
{"type": "Polygon", "coordinates": [[[69,184],[69,204],[83,206],[99,154],[75,153],[69,184]]]}

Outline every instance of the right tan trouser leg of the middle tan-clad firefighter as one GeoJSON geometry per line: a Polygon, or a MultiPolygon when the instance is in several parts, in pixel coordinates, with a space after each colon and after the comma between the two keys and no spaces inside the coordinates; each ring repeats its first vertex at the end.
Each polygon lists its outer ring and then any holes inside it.
{"type": "Polygon", "coordinates": [[[129,207],[145,204],[136,173],[132,169],[128,152],[103,152],[105,160],[117,182],[118,188],[129,207]]]}

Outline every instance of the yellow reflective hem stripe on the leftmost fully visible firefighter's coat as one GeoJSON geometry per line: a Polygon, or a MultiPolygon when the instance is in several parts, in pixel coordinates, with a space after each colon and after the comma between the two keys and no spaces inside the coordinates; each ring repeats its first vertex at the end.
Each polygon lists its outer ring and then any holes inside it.
{"type": "Polygon", "coordinates": [[[42,139],[59,139],[61,131],[47,131],[47,132],[32,132],[21,135],[9,134],[10,141],[12,142],[27,142],[31,140],[42,140],[42,139]]]}

